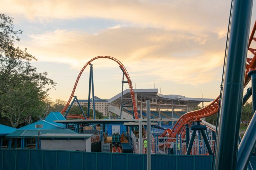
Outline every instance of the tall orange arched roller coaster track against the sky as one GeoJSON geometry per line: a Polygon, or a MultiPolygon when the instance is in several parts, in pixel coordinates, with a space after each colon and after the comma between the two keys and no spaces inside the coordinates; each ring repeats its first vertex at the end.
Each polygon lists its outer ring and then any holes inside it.
{"type": "Polygon", "coordinates": [[[90,61],[88,61],[88,62],[84,65],[84,67],[82,68],[82,70],[80,71],[80,73],[79,73],[78,76],[77,76],[77,79],[76,79],[74,88],[73,88],[73,90],[72,90],[72,93],[71,93],[71,95],[70,95],[70,97],[69,97],[69,99],[68,99],[68,102],[67,102],[66,106],[62,109],[61,113],[63,114],[63,113],[66,111],[66,109],[68,108],[68,105],[70,104],[70,102],[71,102],[71,100],[72,100],[72,97],[73,97],[73,95],[74,95],[74,93],[75,93],[75,90],[76,90],[76,86],[77,86],[77,84],[78,84],[78,81],[79,81],[79,79],[80,79],[80,77],[81,77],[81,75],[82,75],[84,69],[85,69],[93,60],[96,60],[96,59],[99,59],[99,58],[108,58],[108,59],[111,59],[111,60],[113,60],[113,61],[115,61],[115,62],[117,62],[117,63],[119,64],[119,67],[121,68],[121,70],[123,71],[123,73],[124,73],[124,75],[125,75],[125,77],[126,77],[126,79],[127,79],[127,82],[128,82],[128,85],[129,85],[129,89],[130,89],[130,92],[131,92],[131,98],[132,98],[132,106],[133,106],[134,118],[135,118],[135,119],[139,119],[138,111],[137,111],[137,104],[136,104],[136,101],[135,101],[135,95],[134,95],[134,91],[133,91],[133,87],[132,87],[132,81],[131,81],[131,79],[130,79],[130,76],[129,76],[129,74],[128,74],[128,71],[126,70],[125,66],[124,66],[118,59],[116,59],[116,58],[114,58],[114,57],[110,57],[110,56],[97,56],[97,57],[94,57],[94,58],[92,58],[90,61]]]}

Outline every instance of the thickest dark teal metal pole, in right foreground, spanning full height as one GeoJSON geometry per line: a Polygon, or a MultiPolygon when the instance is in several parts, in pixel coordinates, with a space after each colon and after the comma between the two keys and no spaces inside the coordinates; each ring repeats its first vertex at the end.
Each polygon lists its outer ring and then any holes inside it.
{"type": "Polygon", "coordinates": [[[237,146],[242,109],[252,0],[233,0],[220,108],[214,168],[237,169],[237,146]]]}

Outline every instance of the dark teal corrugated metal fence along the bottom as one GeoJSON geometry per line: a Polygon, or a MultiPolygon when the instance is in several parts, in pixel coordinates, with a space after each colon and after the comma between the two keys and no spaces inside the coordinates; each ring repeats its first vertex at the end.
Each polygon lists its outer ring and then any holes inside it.
{"type": "MultiPolygon", "coordinates": [[[[210,170],[212,156],[152,155],[152,170],[210,170]]],[[[0,170],[146,170],[147,155],[0,149],[0,170]]]]}

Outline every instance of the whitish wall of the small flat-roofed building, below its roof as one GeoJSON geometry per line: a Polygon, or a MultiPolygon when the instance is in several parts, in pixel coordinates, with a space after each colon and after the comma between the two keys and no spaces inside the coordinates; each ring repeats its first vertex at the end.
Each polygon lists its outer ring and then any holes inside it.
{"type": "Polygon", "coordinates": [[[41,140],[41,149],[91,151],[91,137],[87,140],[41,140]]]}

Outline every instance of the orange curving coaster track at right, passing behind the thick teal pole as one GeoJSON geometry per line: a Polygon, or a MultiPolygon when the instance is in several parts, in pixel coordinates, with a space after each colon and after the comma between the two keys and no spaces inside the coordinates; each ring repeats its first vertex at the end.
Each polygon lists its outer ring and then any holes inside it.
{"type": "MultiPolygon", "coordinates": [[[[251,78],[249,78],[247,76],[247,73],[250,70],[255,69],[255,67],[256,67],[256,49],[250,48],[252,40],[256,41],[256,37],[254,37],[255,30],[256,30],[256,21],[255,21],[254,27],[252,29],[252,33],[251,33],[251,36],[249,38],[249,44],[248,44],[248,50],[251,53],[253,53],[254,56],[253,56],[253,58],[247,58],[247,60],[246,60],[247,63],[246,63],[246,70],[245,70],[244,87],[251,80],[251,78]]],[[[173,127],[173,130],[171,130],[171,129],[165,130],[164,133],[162,135],[160,135],[160,137],[165,136],[166,133],[169,134],[169,137],[172,137],[172,138],[175,138],[176,134],[180,134],[180,133],[183,133],[182,135],[184,136],[184,133],[185,133],[184,126],[186,124],[188,124],[191,120],[200,120],[200,118],[205,118],[205,117],[208,117],[208,116],[212,116],[212,115],[214,115],[218,112],[219,98],[220,98],[220,96],[218,96],[211,104],[209,104],[208,106],[206,106],[202,109],[192,111],[192,112],[188,112],[188,113],[184,114],[176,122],[176,124],[173,127]]]]}

